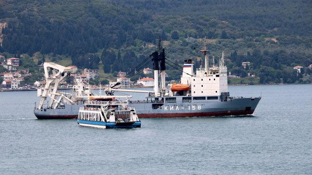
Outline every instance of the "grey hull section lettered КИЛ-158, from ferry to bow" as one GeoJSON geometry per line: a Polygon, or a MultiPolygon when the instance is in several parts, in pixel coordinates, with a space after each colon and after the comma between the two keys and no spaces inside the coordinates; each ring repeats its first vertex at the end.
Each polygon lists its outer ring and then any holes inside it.
{"type": "Polygon", "coordinates": [[[154,109],[153,103],[130,103],[134,107],[139,118],[170,118],[170,117],[223,117],[223,116],[248,116],[253,115],[260,101],[258,98],[237,98],[231,101],[221,102],[175,102],[154,103],[163,104],[154,109]]]}

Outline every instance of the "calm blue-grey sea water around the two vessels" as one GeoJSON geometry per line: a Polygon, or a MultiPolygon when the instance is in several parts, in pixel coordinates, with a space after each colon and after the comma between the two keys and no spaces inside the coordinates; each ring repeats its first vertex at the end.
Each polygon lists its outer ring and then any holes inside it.
{"type": "Polygon", "coordinates": [[[141,119],[141,128],[107,130],[37,120],[36,91],[0,92],[0,175],[311,175],[312,85],[229,89],[262,94],[254,117],[141,119]]]}

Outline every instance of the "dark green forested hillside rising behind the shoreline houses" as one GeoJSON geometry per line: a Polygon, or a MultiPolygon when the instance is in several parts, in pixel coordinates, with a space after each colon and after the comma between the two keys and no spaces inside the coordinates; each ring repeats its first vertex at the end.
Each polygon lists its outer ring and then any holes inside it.
{"type": "MultiPolygon", "coordinates": [[[[128,71],[156,49],[161,36],[176,63],[198,56],[198,38],[229,70],[260,83],[311,82],[309,0],[0,0],[0,53],[28,54],[36,64],[70,58],[82,68],[128,71]],[[39,55],[39,56],[38,56],[39,55]],[[245,70],[241,62],[250,61],[245,70]],[[102,63],[102,64],[99,64],[102,63]],[[295,76],[294,76],[295,75],[295,76]]],[[[217,60],[217,59],[216,59],[217,60]]],[[[171,68],[169,68],[171,69],[171,68]]],[[[180,72],[170,70],[171,79],[180,72]]]]}

